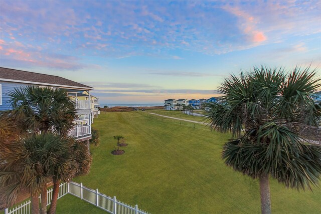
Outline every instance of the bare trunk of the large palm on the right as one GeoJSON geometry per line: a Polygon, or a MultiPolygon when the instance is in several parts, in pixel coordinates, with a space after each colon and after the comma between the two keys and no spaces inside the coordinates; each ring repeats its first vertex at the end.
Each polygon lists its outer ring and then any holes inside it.
{"type": "Polygon", "coordinates": [[[260,195],[261,195],[261,212],[262,214],[271,213],[271,194],[269,175],[261,175],[260,180],[260,195]]]}

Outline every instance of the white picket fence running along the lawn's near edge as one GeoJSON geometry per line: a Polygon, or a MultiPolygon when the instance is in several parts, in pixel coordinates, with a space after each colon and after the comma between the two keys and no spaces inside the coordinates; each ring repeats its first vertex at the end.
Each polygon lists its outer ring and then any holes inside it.
{"type": "MultiPolygon", "coordinates": [[[[47,190],[47,206],[51,203],[53,188],[47,190]]],[[[142,209],[116,199],[116,196],[110,197],[89,187],[83,186],[82,183],[70,181],[69,183],[61,183],[59,185],[58,198],[66,194],[72,194],[85,200],[112,214],[150,214],[142,209]]],[[[29,214],[31,213],[31,200],[27,200],[11,209],[6,208],[5,214],[29,214]]]]}

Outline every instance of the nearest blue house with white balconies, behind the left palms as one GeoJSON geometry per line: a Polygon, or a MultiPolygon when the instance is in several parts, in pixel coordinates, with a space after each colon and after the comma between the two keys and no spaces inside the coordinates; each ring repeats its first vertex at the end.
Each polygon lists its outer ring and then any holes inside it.
{"type": "Polygon", "coordinates": [[[92,87],[58,76],[0,67],[0,111],[10,109],[8,92],[26,85],[65,89],[68,97],[75,101],[79,115],[79,119],[73,122],[74,128],[69,135],[78,141],[86,141],[89,146],[92,123],[92,105],[89,97],[92,87]]]}

